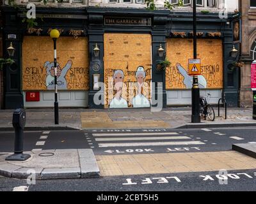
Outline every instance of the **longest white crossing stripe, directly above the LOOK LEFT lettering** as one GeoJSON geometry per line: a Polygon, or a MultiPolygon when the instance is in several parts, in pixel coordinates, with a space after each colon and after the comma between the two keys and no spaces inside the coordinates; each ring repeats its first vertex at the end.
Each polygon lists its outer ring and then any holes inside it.
{"type": "Polygon", "coordinates": [[[141,147],[141,146],[165,146],[165,145],[205,145],[200,141],[184,142],[136,142],[136,143],[99,143],[99,147],[141,147]]]}

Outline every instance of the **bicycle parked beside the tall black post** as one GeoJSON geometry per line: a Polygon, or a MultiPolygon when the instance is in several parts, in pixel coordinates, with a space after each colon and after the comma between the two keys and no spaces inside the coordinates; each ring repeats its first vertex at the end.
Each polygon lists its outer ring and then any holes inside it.
{"type": "Polygon", "coordinates": [[[200,116],[204,117],[206,120],[206,117],[214,121],[215,119],[215,112],[212,106],[207,102],[209,101],[209,98],[211,97],[211,94],[207,94],[207,97],[200,96],[200,116]]]}

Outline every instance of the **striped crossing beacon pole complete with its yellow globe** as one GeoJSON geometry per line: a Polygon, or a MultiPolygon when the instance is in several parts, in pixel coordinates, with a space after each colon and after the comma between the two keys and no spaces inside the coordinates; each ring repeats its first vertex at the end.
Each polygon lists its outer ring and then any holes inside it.
{"type": "Polygon", "coordinates": [[[60,36],[57,29],[52,29],[50,36],[53,40],[54,48],[54,124],[59,124],[59,103],[58,103],[58,87],[57,87],[57,49],[56,41],[60,36]]]}

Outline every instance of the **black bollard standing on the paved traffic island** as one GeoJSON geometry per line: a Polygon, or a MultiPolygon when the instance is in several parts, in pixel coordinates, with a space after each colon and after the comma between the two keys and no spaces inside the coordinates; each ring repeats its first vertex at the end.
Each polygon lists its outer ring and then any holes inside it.
{"type": "Polygon", "coordinates": [[[15,129],[14,154],[6,157],[6,161],[25,161],[30,157],[29,154],[23,154],[23,131],[26,124],[25,110],[18,108],[13,112],[12,125],[15,129]]]}

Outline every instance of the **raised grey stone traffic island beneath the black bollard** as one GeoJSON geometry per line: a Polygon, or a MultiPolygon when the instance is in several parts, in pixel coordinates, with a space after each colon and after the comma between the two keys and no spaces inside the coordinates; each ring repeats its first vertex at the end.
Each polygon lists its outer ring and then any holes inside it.
{"type": "Polygon", "coordinates": [[[15,179],[79,179],[99,177],[92,149],[52,149],[24,152],[26,161],[5,161],[11,154],[0,154],[0,175],[15,179]]]}

